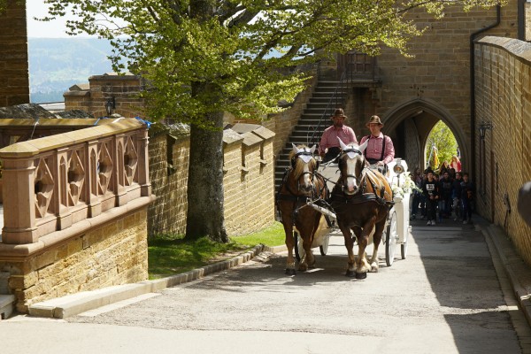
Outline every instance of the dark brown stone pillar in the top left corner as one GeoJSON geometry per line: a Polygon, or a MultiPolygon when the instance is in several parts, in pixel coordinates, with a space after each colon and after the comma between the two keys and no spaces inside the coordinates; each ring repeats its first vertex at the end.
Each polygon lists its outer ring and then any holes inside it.
{"type": "Polygon", "coordinates": [[[0,13],[0,107],[29,103],[26,2],[0,13]]]}

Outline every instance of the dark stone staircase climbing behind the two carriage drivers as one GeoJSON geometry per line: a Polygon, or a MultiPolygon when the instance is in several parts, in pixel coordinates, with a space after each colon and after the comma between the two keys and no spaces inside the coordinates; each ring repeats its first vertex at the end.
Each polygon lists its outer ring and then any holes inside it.
{"type": "Polygon", "coordinates": [[[274,171],[275,190],[281,184],[282,176],[289,167],[289,152],[293,149],[291,143],[304,144],[312,147],[319,144],[320,136],[330,126],[330,116],[335,108],[342,107],[347,88],[340,87],[339,81],[319,81],[310,97],[304,112],[301,114],[296,127],[284,148],[279,153],[274,171]]]}

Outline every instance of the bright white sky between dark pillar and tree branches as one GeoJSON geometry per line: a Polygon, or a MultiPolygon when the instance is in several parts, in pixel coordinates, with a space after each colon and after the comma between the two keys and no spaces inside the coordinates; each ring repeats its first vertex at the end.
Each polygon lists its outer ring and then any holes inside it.
{"type": "MultiPolygon", "coordinates": [[[[50,22],[36,21],[34,17],[44,17],[48,14],[48,5],[44,0],[30,0],[26,3],[27,36],[31,38],[66,38],[65,19],[55,19],[50,22]]],[[[79,35],[80,37],[83,35],[79,35]]],[[[84,35],[85,37],[87,35],[84,35]]]]}

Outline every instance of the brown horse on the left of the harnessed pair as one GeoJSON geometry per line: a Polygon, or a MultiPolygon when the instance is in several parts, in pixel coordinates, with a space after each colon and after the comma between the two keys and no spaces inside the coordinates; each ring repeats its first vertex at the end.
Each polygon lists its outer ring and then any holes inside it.
{"type": "Polygon", "coordinates": [[[294,275],[295,258],[293,248],[294,227],[303,240],[305,251],[304,258],[299,263],[299,271],[306,271],[312,267],[315,258],[312,254],[312,242],[319,228],[319,220],[323,217],[306,203],[308,201],[324,200],[327,196],[326,184],[322,176],[317,173],[317,161],[313,158],[312,149],[293,145],[289,154],[291,166],[284,174],[281,187],[276,196],[277,210],[281,214],[281,222],[286,233],[286,246],[288,247],[288,259],[286,274],[294,275]]]}

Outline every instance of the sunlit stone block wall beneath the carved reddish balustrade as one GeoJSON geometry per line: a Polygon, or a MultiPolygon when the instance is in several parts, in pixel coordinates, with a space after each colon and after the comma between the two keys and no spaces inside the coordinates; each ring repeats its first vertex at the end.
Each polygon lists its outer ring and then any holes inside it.
{"type": "Polygon", "coordinates": [[[148,279],[146,209],[113,219],[20,260],[1,260],[16,309],[77,293],[148,279]]]}

